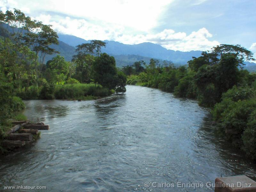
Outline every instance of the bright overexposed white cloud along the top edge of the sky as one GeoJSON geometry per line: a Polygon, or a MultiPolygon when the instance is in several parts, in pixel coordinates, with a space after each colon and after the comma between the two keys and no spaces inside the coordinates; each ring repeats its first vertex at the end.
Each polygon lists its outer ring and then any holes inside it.
{"type": "MultiPolygon", "coordinates": [[[[173,0],[7,0],[2,7],[18,8],[36,17],[38,12],[65,14],[69,17],[109,22],[147,31],[157,25],[158,16],[173,0]]],[[[4,9],[4,8],[3,8],[4,9]]]]}

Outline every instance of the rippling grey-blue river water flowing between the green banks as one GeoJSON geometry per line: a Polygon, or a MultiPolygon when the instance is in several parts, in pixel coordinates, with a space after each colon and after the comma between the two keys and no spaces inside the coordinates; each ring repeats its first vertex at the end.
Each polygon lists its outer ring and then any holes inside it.
{"type": "Polygon", "coordinates": [[[256,179],[255,165],[216,138],[209,110],[195,100],[128,85],[125,94],[101,100],[25,104],[25,115],[50,130],[0,157],[0,190],[23,185],[47,191],[213,191],[216,177],[256,179]]]}

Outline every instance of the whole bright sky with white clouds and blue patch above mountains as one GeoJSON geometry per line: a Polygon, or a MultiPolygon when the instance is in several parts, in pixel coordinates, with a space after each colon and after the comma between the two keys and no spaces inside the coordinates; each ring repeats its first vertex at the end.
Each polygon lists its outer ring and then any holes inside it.
{"type": "Polygon", "coordinates": [[[240,44],[256,52],[256,0],[0,0],[1,11],[13,8],[85,40],[175,51],[240,44]]]}

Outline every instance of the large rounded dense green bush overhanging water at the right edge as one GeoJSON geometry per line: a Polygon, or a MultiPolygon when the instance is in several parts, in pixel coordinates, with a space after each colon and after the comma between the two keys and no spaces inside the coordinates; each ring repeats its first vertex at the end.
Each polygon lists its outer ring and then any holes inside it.
{"type": "MultiPolygon", "coordinates": [[[[254,83],[255,84],[255,83],[254,83]]],[[[234,86],[222,95],[212,115],[218,124],[218,132],[238,148],[256,160],[256,100],[255,87],[234,86]]]]}

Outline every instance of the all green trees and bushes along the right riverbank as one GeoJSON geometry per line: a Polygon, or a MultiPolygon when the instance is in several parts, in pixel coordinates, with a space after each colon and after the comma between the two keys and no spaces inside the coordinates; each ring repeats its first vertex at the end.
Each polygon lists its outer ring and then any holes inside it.
{"type": "Polygon", "coordinates": [[[160,66],[151,59],[140,72],[136,64],[123,71],[128,84],[159,88],[212,108],[219,135],[256,160],[256,74],[242,69],[244,59],[254,60],[252,52],[221,44],[188,61],[188,67],[160,66]]]}

